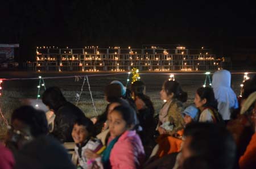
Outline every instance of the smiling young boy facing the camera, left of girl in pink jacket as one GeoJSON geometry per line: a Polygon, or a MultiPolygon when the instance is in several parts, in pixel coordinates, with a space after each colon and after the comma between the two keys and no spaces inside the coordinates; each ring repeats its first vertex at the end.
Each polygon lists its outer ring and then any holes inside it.
{"type": "Polygon", "coordinates": [[[86,149],[99,151],[98,153],[101,153],[101,149],[104,149],[100,140],[91,138],[93,135],[94,126],[90,119],[84,117],[75,121],[72,130],[72,137],[76,143],[75,159],[78,160],[78,168],[88,168],[88,160],[84,156],[86,149]]]}

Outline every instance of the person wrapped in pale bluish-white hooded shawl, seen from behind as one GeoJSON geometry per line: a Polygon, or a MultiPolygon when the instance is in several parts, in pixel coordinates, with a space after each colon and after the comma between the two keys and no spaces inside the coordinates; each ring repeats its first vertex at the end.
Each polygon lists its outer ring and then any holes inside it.
{"type": "Polygon", "coordinates": [[[218,112],[223,120],[230,120],[232,109],[238,108],[237,96],[230,87],[231,74],[228,70],[218,70],[213,74],[212,87],[218,102],[218,112]]]}

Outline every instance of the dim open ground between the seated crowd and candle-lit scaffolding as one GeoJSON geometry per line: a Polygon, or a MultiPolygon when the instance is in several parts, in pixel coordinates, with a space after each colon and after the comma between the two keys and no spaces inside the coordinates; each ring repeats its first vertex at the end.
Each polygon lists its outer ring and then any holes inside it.
{"type": "MultiPolygon", "coordinates": [[[[93,117],[101,114],[105,107],[106,102],[104,100],[104,87],[106,84],[117,80],[121,81],[126,85],[127,73],[123,74],[107,74],[107,73],[33,73],[33,72],[21,72],[21,71],[1,71],[0,78],[37,78],[39,75],[42,77],[67,77],[74,75],[81,75],[79,82],[75,82],[75,77],[71,78],[51,78],[44,79],[46,87],[59,86],[63,91],[63,94],[67,100],[76,104],[76,94],[81,91],[81,86],[83,82],[83,76],[89,75],[89,83],[92,91],[92,96],[94,102],[96,103],[97,113],[94,111],[92,106],[92,100],[90,99],[90,93],[88,90],[88,84],[85,82],[80,102],[78,106],[84,111],[85,115],[88,117],[93,117]],[[102,75],[101,75],[102,74],[102,75]]],[[[162,84],[169,78],[170,73],[141,73],[141,81],[146,84],[146,94],[150,96],[152,102],[154,103],[156,112],[159,112],[160,107],[163,102],[159,99],[159,91],[161,90],[162,84]]],[[[249,74],[253,77],[253,73],[249,74]]],[[[212,76],[212,75],[210,75],[212,76]]],[[[175,74],[175,80],[180,82],[184,91],[188,92],[188,101],[185,105],[193,103],[193,98],[195,96],[195,91],[197,88],[203,86],[205,81],[204,72],[194,72],[194,73],[177,73],[175,74]]],[[[240,84],[243,80],[243,73],[232,74],[232,87],[237,95],[240,94],[240,84]]],[[[3,115],[10,121],[11,112],[15,108],[18,108],[22,100],[24,99],[36,99],[38,93],[39,79],[14,79],[11,81],[3,80],[2,95],[0,96],[0,108],[3,115]]],[[[209,83],[208,83],[209,84],[209,83]]],[[[129,85],[128,85],[129,86],[129,85]]],[[[40,94],[42,94],[44,88],[40,88],[40,94]]],[[[6,125],[3,123],[2,118],[0,118],[0,133],[5,133],[6,125]]],[[[1,137],[1,136],[0,136],[1,137]]]]}

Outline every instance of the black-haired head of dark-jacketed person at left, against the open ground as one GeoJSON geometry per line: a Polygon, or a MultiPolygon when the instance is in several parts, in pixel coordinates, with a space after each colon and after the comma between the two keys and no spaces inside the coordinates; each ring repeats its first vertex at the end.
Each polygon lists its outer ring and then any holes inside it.
{"type": "Polygon", "coordinates": [[[49,87],[43,93],[42,102],[46,104],[49,109],[53,109],[53,111],[56,112],[67,100],[64,98],[59,87],[49,87]]]}

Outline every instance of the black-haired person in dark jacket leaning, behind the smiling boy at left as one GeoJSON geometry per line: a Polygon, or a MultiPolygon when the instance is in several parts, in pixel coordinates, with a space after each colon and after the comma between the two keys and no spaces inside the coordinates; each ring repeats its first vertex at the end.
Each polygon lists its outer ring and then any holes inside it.
{"type": "Polygon", "coordinates": [[[60,142],[73,142],[71,133],[74,122],[85,117],[81,109],[68,102],[59,87],[47,88],[43,93],[42,101],[56,115],[51,134],[60,142]]]}

